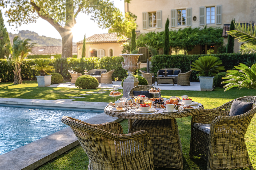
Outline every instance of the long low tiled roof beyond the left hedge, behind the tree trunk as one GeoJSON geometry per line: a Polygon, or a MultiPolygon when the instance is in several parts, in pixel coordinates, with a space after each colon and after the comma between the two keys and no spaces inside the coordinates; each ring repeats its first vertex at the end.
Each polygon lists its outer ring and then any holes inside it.
{"type": "MultiPolygon", "coordinates": [[[[30,54],[61,54],[62,46],[33,47],[30,54]]],[[[72,53],[77,53],[77,45],[73,45],[72,53]]]]}

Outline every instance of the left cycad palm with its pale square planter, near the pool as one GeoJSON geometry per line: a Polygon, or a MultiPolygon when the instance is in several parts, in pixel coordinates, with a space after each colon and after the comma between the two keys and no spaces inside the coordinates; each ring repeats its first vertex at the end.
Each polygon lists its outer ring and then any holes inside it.
{"type": "Polygon", "coordinates": [[[53,71],[54,68],[53,66],[48,66],[50,61],[41,59],[41,60],[36,60],[35,65],[30,66],[32,70],[39,70],[40,75],[36,76],[37,78],[37,83],[38,87],[47,87],[51,85],[51,74],[47,73],[46,71],[53,71]],[[48,74],[48,75],[45,75],[48,74]]]}

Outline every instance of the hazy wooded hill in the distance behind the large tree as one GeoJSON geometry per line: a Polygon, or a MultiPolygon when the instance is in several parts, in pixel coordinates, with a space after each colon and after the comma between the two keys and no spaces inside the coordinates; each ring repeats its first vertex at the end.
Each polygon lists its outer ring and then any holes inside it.
{"type": "MultiPolygon", "coordinates": [[[[21,30],[18,34],[12,34],[10,32],[9,37],[11,42],[13,42],[13,38],[16,36],[20,36],[21,39],[31,39],[33,43],[37,43],[36,46],[62,46],[61,39],[46,37],[44,35],[39,36],[38,33],[29,30],[21,30]]],[[[74,42],[73,45],[75,45],[74,42]]]]}

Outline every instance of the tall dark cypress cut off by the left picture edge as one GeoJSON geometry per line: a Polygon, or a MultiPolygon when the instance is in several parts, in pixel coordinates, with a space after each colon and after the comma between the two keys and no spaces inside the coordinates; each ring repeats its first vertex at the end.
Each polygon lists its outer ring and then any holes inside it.
{"type": "Polygon", "coordinates": [[[3,24],[2,11],[0,10],[0,58],[4,58],[3,46],[9,42],[9,35],[5,28],[5,24],[3,24]]]}

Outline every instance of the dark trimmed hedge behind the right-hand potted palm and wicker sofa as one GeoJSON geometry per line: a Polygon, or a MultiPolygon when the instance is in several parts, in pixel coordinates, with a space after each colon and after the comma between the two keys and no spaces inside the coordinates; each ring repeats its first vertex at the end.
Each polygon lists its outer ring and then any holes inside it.
{"type": "MultiPolygon", "coordinates": [[[[222,60],[222,65],[225,67],[225,70],[231,70],[234,66],[237,66],[238,63],[242,63],[243,61],[247,61],[249,59],[256,59],[255,54],[209,54],[208,56],[216,56],[222,60]]],[[[190,61],[194,62],[198,59],[198,57],[205,56],[202,55],[155,55],[151,60],[150,72],[154,73],[155,76],[159,69],[163,68],[178,68],[181,69],[182,73],[186,73],[190,70],[190,61]]],[[[197,79],[198,71],[192,72],[192,82],[199,81],[197,79]]]]}

